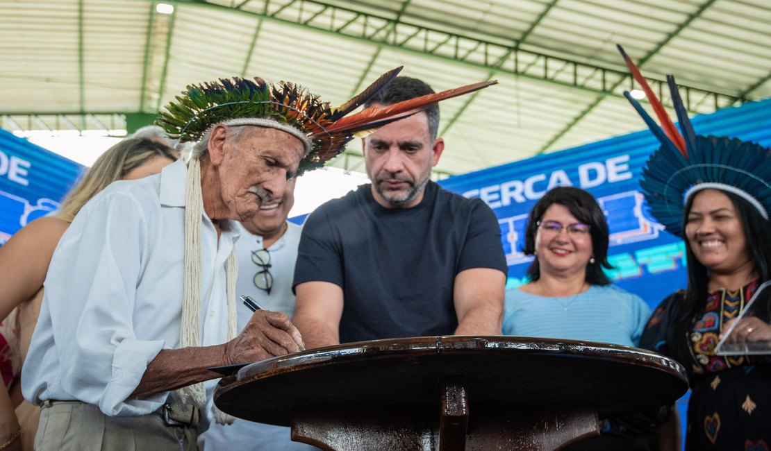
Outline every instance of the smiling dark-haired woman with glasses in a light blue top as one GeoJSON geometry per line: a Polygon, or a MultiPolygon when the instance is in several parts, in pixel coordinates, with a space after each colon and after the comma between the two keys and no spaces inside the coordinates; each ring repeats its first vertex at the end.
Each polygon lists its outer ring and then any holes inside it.
{"type": "MultiPolygon", "coordinates": [[[[650,309],[611,285],[608,223],[591,194],[558,187],[547,192],[525,229],[524,253],[535,259],[529,282],[506,292],[503,334],[638,346],[650,309]]],[[[656,449],[651,419],[607,420],[603,433],[566,449],[656,449]]]]}

